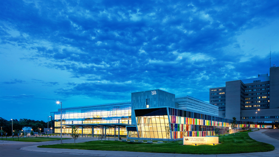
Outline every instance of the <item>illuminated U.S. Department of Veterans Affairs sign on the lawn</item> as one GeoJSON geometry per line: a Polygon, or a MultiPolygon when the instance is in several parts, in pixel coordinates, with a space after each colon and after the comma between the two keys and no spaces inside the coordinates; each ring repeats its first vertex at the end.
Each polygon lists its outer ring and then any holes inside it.
{"type": "Polygon", "coordinates": [[[218,144],[219,137],[193,137],[193,136],[184,136],[183,145],[192,145],[192,144],[218,144]]]}

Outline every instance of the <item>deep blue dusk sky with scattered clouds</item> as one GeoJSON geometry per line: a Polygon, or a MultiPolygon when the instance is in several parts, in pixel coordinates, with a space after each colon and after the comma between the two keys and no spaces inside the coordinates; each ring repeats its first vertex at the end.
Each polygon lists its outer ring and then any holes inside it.
{"type": "Polygon", "coordinates": [[[160,89],[209,88],[279,66],[279,1],[0,1],[0,117],[160,89]]]}

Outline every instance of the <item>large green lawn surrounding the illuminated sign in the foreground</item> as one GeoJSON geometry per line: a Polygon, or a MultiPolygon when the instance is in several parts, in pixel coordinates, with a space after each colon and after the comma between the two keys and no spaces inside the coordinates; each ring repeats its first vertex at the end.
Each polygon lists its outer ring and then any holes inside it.
{"type": "Polygon", "coordinates": [[[213,145],[182,145],[182,141],[146,144],[137,142],[120,141],[90,141],[84,143],[55,144],[38,146],[40,148],[67,148],[107,151],[135,151],[152,153],[180,153],[180,154],[234,154],[265,152],[274,150],[274,146],[263,142],[257,142],[248,136],[248,132],[239,132],[235,135],[219,137],[221,144],[213,145]]]}

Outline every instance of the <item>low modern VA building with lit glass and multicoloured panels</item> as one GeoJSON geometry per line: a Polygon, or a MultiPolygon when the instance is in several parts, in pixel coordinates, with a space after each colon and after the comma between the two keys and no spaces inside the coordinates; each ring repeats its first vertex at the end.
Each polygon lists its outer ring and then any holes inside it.
{"type": "MultiPolygon", "coordinates": [[[[60,108],[51,112],[51,120],[54,133],[60,133],[60,108]]],[[[158,89],[131,93],[131,102],[62,108],[62,133],[71,134],[72,126],[76,126],[82,136],[174,140],[215,135],[215,128],[225,134],[231,123],[218,117],[215,105],[158,89]]],[[[252,123],[237,121],[238,127],[250,127],[252,123]]]]}

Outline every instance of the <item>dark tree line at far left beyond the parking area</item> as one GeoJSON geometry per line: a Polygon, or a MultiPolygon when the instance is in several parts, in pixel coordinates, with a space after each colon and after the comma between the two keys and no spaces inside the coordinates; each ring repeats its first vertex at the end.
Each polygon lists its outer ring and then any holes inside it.
{"type": "MultiPolygon", "coordinates": [[[[0,117],[0,127],[2,128],[1,132],[3,136],[7,133],[7,136],[12,136],[12,120],[6,120],[0,117]]],[[[38,128],[44,131],[44,128],[47,128],[47,122],[43,120],[31,120],[31,119],[13,119],[13,130],[15,135],[22,130],[22,127],[32,127],[33,132],[38,132],[38,128]]],[[[51,121],[49,121],[49,127],[51,127],[51,121]]]]}

